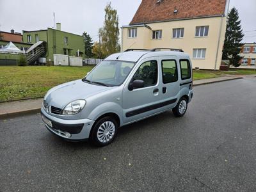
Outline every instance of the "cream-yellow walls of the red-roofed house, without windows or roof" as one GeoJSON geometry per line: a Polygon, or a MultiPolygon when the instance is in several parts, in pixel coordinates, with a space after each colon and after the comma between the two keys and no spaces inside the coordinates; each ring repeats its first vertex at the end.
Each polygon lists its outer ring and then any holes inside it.
{"type": "Polygon", "coordinates": [[[220,68],[225,40],[226,17],[155,22],[148,23],[147,26],[152,30],[161,29],[161,40],[152,40],[152,31],[146,27],[137,29],[137,38],[128,38],[129,28],[123,28],[122,50],[128,48],[153,49],[156,47],[183,49],[184,52],[188,52],[191,56],[193,68],[215,69],[215,64],[217,70],[220,68]],[[209,26],[208,36],[195,37],[196,26],[209,26]],[[184,28],[184,38],[172,38],[172,30],[175,28],[184,28]],[[220,44],[218,45],[219,36],[220,44]],[[206,49],[205,59],[194,59],[193,49],[206,49]],[[218,57],[216,62],[217,50],[218,57]]]}

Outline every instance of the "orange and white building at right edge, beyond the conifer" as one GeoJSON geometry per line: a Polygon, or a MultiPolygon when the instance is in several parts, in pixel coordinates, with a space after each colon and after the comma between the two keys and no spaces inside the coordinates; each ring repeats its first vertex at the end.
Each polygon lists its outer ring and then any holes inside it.
{"type": "Polygon", "coordinates": [[[239,68],[255,68],[256,67],[256,43],[244,44],[241,49],[241,60],[239,68]]]}

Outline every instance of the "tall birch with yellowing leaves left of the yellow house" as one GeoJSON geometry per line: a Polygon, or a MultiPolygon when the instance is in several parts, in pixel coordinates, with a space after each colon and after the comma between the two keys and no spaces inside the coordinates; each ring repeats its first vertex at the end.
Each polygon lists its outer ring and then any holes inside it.
{"type": "Polygon", "coordinates": [[[105,56],[120,51],[118,44],[118,15],[117,11],[111,8],[111,3],[105,8],[105,20],[103,28],[99,29],[100,44],[102,52],[105,56]]]}

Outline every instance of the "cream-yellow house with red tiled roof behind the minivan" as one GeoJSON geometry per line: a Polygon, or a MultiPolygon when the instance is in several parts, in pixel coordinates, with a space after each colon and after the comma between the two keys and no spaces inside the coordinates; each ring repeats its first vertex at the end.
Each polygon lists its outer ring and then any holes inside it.
{"type": "Polygon", "coordinates": [[[219,70],[227,10],[226,0],[142,0],[129,26],[122,26],[121,51],[182,49],[193,68],[219,70]]]}

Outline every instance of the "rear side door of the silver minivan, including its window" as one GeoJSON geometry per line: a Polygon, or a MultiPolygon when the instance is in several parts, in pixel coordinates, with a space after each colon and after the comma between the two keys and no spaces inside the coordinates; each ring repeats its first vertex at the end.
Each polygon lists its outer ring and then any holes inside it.
{"type": "Polygon", "coordinates": [[[161,110],[174,108],[179,99],[179,64],[175,56],[159,57],[161,110]]]}

